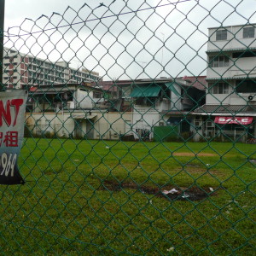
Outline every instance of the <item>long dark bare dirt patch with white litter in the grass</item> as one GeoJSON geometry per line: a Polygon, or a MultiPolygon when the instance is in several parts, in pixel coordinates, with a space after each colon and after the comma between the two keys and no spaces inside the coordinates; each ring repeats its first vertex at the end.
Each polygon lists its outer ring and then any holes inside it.
{"type": "Polygon", "coordinates": [[[148,186],[138,186],[136,183],[118,183],[116,181],[109,181],[105,180],[100,190],[109,190],[109,191],[121,191],[123,189],[136,189],[137,191],[148,194],[148,195],[155,195],[157,197],[165,198],[166,200],[171,201],[200,201],[208,196],[212,196],[216,193],[216,190],[213,191],[210,188],[200,188],[200,187],[192,187],[192,188],[177,188],[177,187],[165,187],[165,188],[154,188],[148,186]],[[167,193],[171,189],[176,189],[177,192],[175,193],[167,193]]]}

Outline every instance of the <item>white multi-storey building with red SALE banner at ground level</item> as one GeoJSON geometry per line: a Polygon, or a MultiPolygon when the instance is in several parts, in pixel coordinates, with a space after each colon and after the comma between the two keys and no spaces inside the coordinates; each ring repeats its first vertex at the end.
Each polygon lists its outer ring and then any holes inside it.
{"type": "Polygon", "coordinates": [[[206,104],[195,113],[204,137],[256,136],[256,24],[209,28],[206,104]]]}

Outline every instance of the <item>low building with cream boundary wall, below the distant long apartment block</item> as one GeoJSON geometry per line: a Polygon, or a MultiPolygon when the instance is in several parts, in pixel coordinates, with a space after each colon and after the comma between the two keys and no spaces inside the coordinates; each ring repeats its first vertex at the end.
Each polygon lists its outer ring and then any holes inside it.
{"type": "Polygon", "coordinates": [[[119,140],[131,113],[111,112],[108,98],[108,91],[90,84],[32,86],[25,135],[119,140]]]}

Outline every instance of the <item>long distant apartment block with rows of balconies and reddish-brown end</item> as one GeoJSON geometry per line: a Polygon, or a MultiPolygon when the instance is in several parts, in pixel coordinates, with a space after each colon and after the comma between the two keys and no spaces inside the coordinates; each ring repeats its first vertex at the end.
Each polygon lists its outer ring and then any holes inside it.
{"type": "Polygon", "coordinates": [[[30,85],[82,83],[99,80],[99,73],[74,69],[65,61],[50,62],[15,49],[3,50],[3,84],[7,88],[30,85]]]}

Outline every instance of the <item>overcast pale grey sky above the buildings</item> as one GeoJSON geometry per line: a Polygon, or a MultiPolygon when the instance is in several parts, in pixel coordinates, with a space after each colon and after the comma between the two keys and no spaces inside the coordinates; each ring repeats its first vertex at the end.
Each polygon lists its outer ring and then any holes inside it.
{"type": "Polygon", "coordinates": [[[13,27],[11,34],[117,16],[11,37],[6,46],[93,69],[104,80],[204,75],[207,27],[255,23],[255,9],[255,0],[8,0],[5,30],[13,27]],[[119,15],[137,9],[143,11],[119,15]]]}

